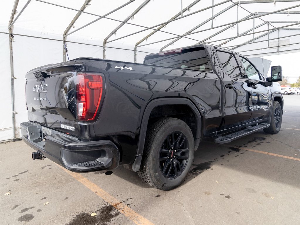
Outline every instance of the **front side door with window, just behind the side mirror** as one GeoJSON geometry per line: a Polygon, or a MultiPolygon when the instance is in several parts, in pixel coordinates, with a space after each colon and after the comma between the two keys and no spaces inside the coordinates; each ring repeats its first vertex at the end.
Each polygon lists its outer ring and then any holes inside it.
{"type": "Polygon", "coordinates": [[[237,55],[237,59],[241,64],[242,76],[249,79],[251,86],[250,122],[268,118],[271,94],[270,89],[264,86],[264,77],[247,58],[237,55]]]}

